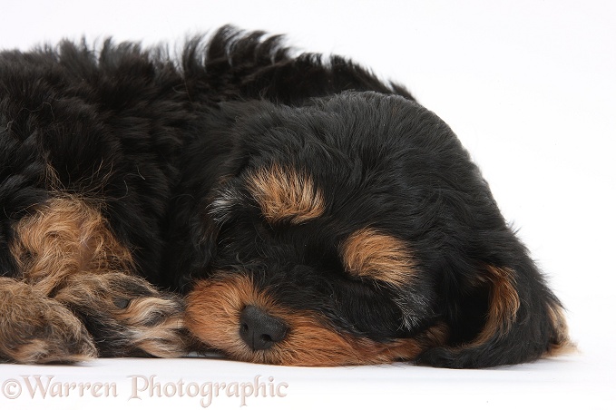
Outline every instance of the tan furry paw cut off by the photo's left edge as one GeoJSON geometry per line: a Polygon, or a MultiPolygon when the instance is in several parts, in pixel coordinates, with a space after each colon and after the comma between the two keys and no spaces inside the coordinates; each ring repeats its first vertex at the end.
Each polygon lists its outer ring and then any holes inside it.
{"type": "Polygon", "coordinates": [[[73,313],[24,282],[0,278],[0,359],[76,362],[96,356],[93,339],[73,313]]]}

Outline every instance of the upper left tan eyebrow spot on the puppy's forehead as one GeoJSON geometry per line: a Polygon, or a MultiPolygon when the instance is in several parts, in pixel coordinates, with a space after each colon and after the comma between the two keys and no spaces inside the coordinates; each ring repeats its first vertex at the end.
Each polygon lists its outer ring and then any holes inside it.
{"type": "Polygon", "coordinates": [[[325,211],[325,199],[312,178],[303,172],[275,164],[254,172],[249,190],[263,217],[271,223],[288,220],[301,223],[318,218],[325,211]]]}

